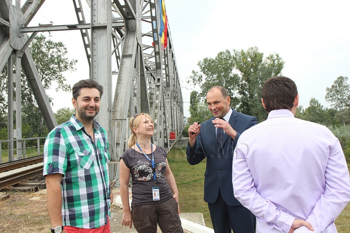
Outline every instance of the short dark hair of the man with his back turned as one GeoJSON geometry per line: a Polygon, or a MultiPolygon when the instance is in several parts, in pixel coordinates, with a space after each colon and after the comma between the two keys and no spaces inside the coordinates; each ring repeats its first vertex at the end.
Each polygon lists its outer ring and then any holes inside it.
{"type": "Polygon", "coordinates": [[[269,78],[262,86],[262,99],[268,113],[279,109],[291,110],[296,96],[297,85],[284,76],[269,78]]]}

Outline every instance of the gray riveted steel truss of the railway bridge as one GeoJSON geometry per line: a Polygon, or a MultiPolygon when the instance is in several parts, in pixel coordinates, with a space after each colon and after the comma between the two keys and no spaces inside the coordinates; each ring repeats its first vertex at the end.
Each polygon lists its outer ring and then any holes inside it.
{"type": "MultiPolygon", "coordinates": [[[[111,178],[118,177],[119,157],[127,148],[130,135],[128,120],[137,112],[152,116],[155,123],[153,142],[170,148],[170,132],[182,133],[183,100],[176,67],[175,53],[168,26],[168,46],[160,42],[159,0],[87,0],[90,23],[82,10],[81,0],[72,0],[77,23],[70,25],[39,25],[27,27],[45,0],[0,0],[0,70],[8,67],[8,116],[16,110],[17,129],[9,120],[8,139],[21,139],[20,70],[26,75],[38,107],[49,130],[57,122],[41,83],[28,45],[38,32],[80,30],[90,79],[104,86],[100,113],[96,120],[106,129],[111,145],[111,178]],[[32,33],[29,37],[28,33],[32,33]],[[91,36],[89,36],[89,33],[91,36]],[[16,57],[16,72],[13,70],[16,57]],[[112,71],[112,64],[118,71],[112,71]],[[13,73],[16,74],[14,77],[13,73]],[[116,78],[114,96],[112,77],[116,78]],[[16,83],[16,90],[13,88],[16,83]],[[20,101],[17,101],[20,103],[20,101]]],[[[17,143],[18,151],[21,150],[17,143]]],[[[10,145],[9,145],[10,149],[10,145]]]]}

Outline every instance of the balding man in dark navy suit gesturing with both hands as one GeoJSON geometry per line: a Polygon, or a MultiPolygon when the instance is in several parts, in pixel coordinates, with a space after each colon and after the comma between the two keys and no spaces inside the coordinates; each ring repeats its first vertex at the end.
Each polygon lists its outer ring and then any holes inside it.
{"type": "Polygon", "coordinates": [[[210,88],[207,104],[214,117],[190,126],[187,160],[196,165],[207,158],[204,200],[215,233],[231,233],[231,229],[234,233],[255,233],[256,217],[233,195],[232,158],[239,136],[256,125],[257,119],[230,108],[230,97],[222,86],[210,88]]]}

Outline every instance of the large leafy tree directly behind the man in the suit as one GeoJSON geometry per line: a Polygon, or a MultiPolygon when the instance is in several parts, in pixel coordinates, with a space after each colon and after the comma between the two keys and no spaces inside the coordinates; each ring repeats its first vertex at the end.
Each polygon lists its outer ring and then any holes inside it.
{"type": "Polygon", "coordinates": [[[200,72],[192,71],[190,81],[198,84],[199,96],[204,98],[214,85],[227,89],[231,106],[237,111],[256,116],[258,122],[266,119],[262,107],[261,90],[263,83],[273,76],[280,75],[284,66],[279,54],[263,58],[257,47],[248,50],[221,51],[213,58],[198,62],[200,72]]]}

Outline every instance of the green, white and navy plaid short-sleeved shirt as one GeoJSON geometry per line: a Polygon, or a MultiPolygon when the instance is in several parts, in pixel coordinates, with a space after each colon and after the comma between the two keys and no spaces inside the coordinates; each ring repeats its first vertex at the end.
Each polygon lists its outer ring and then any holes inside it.
{"type": "Polygon", "coordinates": [[[95,142],[73,115],[54,128],[44,145],[44,176],[63,174],[62,221],[64,226],[94,229],[110,216],[107,133],[94,121],[95,142]]]}

